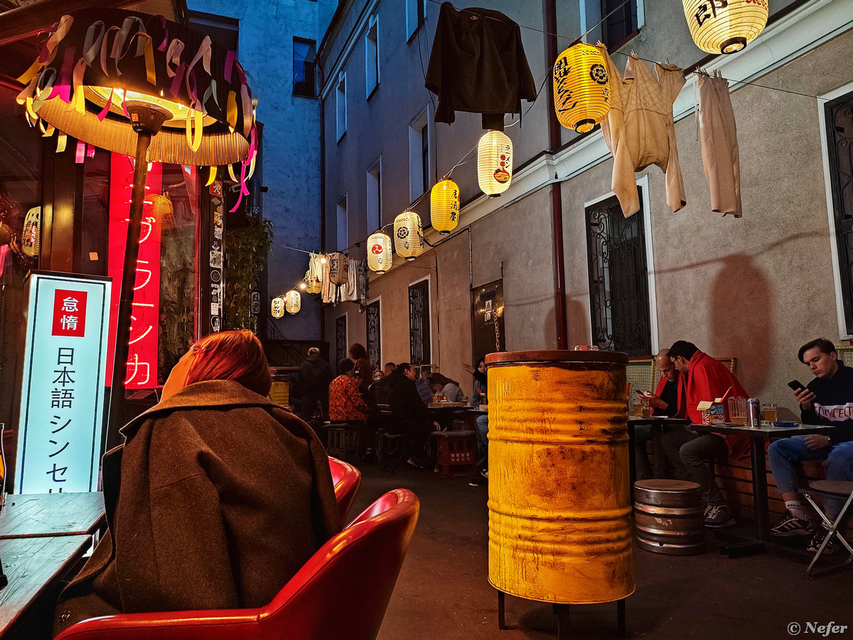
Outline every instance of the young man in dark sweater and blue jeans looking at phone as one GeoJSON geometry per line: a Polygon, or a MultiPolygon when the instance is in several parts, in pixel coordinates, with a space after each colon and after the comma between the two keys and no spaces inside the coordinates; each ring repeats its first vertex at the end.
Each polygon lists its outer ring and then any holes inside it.
{"type": "MultiPolygon", "coordinates": [[[[810,537],[809,550],[820,548],[826,527],[812,527],[798,492],[796,465],[803,460],[822,460],[827,480],[853,480],[853,369],[838,359],[835,346],[825,338],[806,342],[797,354],[814,378],[794,390],[804,424],[836,426],[830,435],[794,436],[775,440],[768,451],[770,469],[782,500],[785,515],[771,530],[777,538],[810,537]]],[[[793,385],[797,387],[798,385],[793,385]]],[[[834,521],[841,509],[838,501],[827,500],[827,517],[834,521]]],[[[827,552],[835,550],[833,540],[827,552]]]]}

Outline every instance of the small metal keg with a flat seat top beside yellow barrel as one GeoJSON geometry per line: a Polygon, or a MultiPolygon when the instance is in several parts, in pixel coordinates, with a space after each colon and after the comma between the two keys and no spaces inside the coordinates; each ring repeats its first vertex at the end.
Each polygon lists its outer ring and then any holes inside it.
{"type": "Polygon", "coordinates": [[[634,483],[637,546],[667,556],[697,556],[705,551],[702,490],[686,480],[634,483]]]}

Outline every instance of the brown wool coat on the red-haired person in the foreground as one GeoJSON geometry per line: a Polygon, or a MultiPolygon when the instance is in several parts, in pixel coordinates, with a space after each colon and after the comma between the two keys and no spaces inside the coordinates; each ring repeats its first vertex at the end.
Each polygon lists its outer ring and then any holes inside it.
{"type": "Polygon", "coordinates": [[[109,531],[54,634],[119,612],[264,606],[340,529],[315,433],[237,382],[184,387],[122,433],[103,463],[109,531]]]}

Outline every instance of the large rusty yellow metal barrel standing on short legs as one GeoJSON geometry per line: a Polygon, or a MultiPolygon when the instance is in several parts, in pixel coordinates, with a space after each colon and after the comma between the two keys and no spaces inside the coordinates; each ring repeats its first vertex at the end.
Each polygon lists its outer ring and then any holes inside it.
{"type": "Polygon", "coordinates": [[[628,356],[499,352],[485,361],[490,584],[541,602],[630,596],[628,356]]]}

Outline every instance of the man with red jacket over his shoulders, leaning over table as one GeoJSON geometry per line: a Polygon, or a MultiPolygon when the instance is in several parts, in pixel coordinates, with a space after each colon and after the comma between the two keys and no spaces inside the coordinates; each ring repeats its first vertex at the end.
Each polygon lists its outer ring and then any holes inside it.
{"type": "MultiPolygon", "coordinates": [[[[700,352],[693,342],[677,340],[670,346],[670,358],[681,373],[682,384],[678,387],[678,404],[687,410],[687,417],[694,424],[702,422],[702,412],[696,405],[703,400],[722,398],[729,387],[729,395],[748,398],[740,381],[726,366],[700,352]],[[683,403],[683,404],[682,404],[683,403]]],[[[726,420],[728,422],[728,406],[726,420]]],[[[702,487],[705,497],[705,527],[728,527],[734,517],[726,506],[714,472],[706,462],[717,456],[729,455],[742,458],[749,455],[749,438],[743,433],[719,435],[717,433],[695,433],[690,428],[664,433],[664,452],[676,468],[702,487]]]]}

